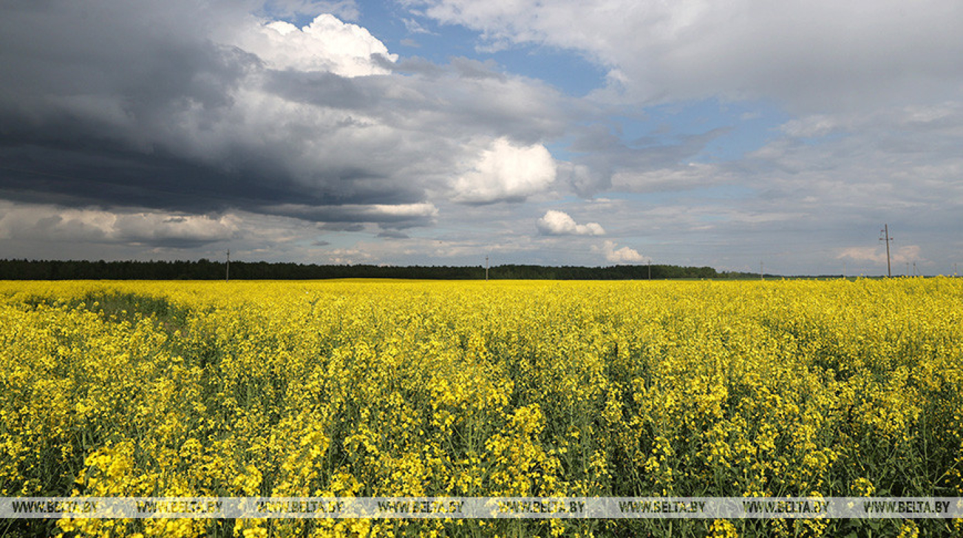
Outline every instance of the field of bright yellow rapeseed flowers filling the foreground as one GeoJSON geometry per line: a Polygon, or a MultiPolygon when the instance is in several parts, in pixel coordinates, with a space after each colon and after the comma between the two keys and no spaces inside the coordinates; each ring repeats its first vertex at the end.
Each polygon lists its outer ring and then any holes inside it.
{"type": "MultiPolygon", "coordinates": [[[[0,349],[0,497],[963,496],[963,279],[0,282],[0,349]]],[[[963,525],[78,519],[4,531],[963,525]]]]}

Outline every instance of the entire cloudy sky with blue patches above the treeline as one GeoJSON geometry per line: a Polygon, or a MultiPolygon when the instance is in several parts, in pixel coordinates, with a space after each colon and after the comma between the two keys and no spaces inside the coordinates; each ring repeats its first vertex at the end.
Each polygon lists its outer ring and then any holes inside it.
{"type": "Polygon", "coordinates": [[[959,0],[0,0],[0,258],[963,265],[959,0]]]}

